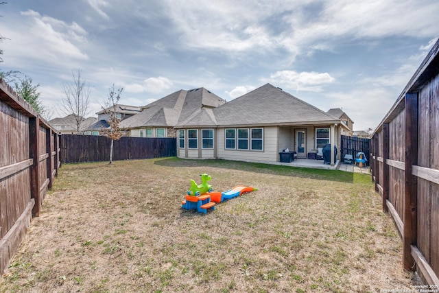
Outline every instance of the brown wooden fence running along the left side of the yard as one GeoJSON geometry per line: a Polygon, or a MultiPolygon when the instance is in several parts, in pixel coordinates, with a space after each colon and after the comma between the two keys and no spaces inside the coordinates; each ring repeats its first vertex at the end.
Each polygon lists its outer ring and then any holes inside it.
{"type": "Polygon", "coordinates": [[[0,277],[58,174],[58,134],[0,79],[0,277]]]}

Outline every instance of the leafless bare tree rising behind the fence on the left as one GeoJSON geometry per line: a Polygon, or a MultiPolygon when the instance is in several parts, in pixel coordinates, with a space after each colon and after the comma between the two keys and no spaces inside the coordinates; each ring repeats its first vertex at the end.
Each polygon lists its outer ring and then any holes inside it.
{"type": "Polygon", "coordinates": [[[90,86],[81,79],[81,70],[78,74],[72,71],[73,84],[64,84],[64,94],[66,97],[61,101],[61,110],[66,115],[73,115],[76,122],[76,131],[80,132],[82,121],[88,114],[90,104],[90,86]]]}

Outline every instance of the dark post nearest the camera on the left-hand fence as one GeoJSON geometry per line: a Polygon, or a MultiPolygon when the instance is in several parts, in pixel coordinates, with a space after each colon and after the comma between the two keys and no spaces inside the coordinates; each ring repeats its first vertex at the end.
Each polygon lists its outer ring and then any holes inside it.
{"type": "Polygon", "coordinates": [[[32,215],[40,216],[40,156],[38,154],[39,142],[38,132],[40,130],[40,119],[29,117],[29,159],[33,159],[30,166],[30,197],[35,199],[32,215]]]}

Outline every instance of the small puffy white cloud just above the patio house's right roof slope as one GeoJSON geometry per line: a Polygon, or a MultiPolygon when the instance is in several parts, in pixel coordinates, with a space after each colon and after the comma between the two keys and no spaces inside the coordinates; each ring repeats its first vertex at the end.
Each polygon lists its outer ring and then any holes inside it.
{"type": "Polygon", "coordinates": [[[283,86],[287,89],[295,89],[296,91],[323,91],[322,86],[331,84],[335,81],[329,73],[318,72],[296,72],[292,70],[276,71],[270,75],[268,82],[273,85],[283,86]]]}

